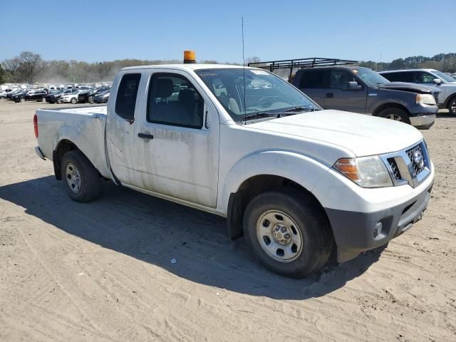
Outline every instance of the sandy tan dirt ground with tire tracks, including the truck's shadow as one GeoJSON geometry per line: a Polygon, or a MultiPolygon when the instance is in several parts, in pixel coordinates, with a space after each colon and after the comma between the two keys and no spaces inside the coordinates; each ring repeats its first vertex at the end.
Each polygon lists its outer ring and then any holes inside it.
{"type": "Polygon", "coordinates": [[[33,150],[43,107],[58,105],[0,102],[0,341],[456,341],[456,117],[423,131],[436,166],[423,220],[293,280],[220,217],[109,182],[71,202],[33,150]]]}

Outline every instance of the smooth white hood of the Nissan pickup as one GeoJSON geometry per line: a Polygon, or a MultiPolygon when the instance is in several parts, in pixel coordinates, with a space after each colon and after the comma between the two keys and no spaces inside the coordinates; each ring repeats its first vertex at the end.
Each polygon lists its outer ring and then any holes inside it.
{"type": "Polygon", "coordinates": [[[406,123],[341,110],[289,115],[247,127],[320,140],[351,150],[358,157],[403,150],[423,139],[420,131],[406,123]]]}

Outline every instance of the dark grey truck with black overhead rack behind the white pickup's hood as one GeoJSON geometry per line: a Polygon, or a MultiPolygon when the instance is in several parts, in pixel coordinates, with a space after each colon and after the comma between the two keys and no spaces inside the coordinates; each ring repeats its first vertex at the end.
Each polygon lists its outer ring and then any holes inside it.
{"type": "MultiPolygon", "coordinates": [[[[438,110],[436,98],[440,93],[437,88],[390,82],[369,68],[350,65],[356,61],[328,58],[290,61],[291,64],[289,61],[279,61],[281,64],[264,62],[266,66],[260,67],[270,71],[285,66],[299,68],[294,78],[290,77],[291,83],[325,109],[375,115],[403,121],[420,129],[434,124],[438,110]],[[317,60],[317,63],[312,63],[312,60],[317,60]],[[318,63],[318,60],[323,61],[318,63]]],[[[255,64],[249,66],[257,66],[255,64]]]]}

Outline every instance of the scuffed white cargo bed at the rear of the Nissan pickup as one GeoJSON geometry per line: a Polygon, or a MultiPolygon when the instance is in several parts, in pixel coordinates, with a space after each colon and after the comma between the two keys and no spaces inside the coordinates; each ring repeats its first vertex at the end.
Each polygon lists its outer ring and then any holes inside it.
{"type": "Polygon", "coordinates": [[[106,105],[81,108],[38,109],[38,145],[53,159],[58,142],[73,142],[103,177],[110,177],[105,155],[106,105]]]}

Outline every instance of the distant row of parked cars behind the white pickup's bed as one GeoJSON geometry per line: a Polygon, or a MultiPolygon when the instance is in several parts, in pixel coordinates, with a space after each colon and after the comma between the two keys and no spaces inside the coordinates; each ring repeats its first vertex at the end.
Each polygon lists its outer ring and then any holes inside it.
{"type": "Polygon", "coordinates": [[[0,93],[16,103],[43,101],[48,103],[107,103],[110,88],[69,88],[69,89],[16,89],[0,93]]]}

